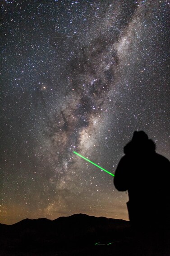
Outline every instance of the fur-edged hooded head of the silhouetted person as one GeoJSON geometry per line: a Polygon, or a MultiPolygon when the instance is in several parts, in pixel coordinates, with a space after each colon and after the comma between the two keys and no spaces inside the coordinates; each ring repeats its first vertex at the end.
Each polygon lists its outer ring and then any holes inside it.
{"type": "Polygon", "coordinates": [[[156,150],[153,140],[148,139],[147,134],[143,131],[134,131],[132,140],[125,145],[124,154],[148,154],[156,150]]]}

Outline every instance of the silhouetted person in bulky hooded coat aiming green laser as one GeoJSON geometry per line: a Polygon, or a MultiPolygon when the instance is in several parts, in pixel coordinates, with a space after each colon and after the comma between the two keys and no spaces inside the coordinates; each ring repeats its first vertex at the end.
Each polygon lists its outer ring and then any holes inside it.
{"type": "Polygon", "coordinates": [[[170,228],[170,161],[155,150],[144,131],[135,131],[115,171],[115,188],[128,190],[129,220],[137,229],[170,228]]]}

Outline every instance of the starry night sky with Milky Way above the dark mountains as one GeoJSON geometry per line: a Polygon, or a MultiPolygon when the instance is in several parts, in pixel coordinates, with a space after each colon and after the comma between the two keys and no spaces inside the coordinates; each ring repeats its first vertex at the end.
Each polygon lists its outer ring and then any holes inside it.
{"type": "Polygon", "coordinates": [[[170,159],[169,5],[0,0],[0,223],[129,219],[128,194],[73,151],[114,173],[144,130],[170,159]]]}

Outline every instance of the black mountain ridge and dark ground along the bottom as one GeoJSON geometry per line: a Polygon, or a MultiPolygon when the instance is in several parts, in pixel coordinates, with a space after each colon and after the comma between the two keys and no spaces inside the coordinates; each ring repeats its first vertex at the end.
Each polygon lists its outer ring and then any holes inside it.
{"type": "Polygon", "coordinates": [[[0,224],[2,256],[150,256],[148,248],[141,237],[133,236],[129,221],[119,219],[74,214],[53,221],[40,218],[0,224]]]}

